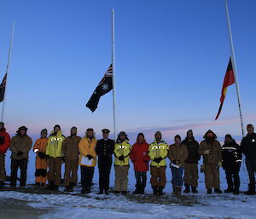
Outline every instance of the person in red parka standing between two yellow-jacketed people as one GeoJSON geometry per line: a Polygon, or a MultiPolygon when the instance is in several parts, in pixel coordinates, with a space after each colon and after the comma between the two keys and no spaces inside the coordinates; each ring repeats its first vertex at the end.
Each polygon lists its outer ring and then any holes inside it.
{"type": "Polygon", "coordinates": [[[143,194],[145,193],[148,162],[150,160],[148,156],[148,143],[145,141],[143,133],[137,135],[137,142],[132,146],[130,158],[136,177],[136,190],[133,193],[143,194]]]}

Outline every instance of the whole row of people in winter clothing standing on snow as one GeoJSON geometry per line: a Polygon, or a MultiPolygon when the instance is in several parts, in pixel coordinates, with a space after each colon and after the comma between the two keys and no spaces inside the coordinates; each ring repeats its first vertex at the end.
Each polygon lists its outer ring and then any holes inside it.
{"type": "MultiPolygon", "coordinates": [[[[26,127],[22,126],[17,135],[10,141],[4,124],[0,123],[0,182],[1,187],[5,181],[4,153],[10,145],[11,155],[11,187],[16,186],[17,170],[20,167],[20,187],[26,186],[26,169],[28,152],[32,147],[32,139],[26,135],[26,127]]],[[[239,170],[241,153],[246,155],[247,170],[250,184],[247,194],[255,193],[255,144],[256,134],[253,125],[247,125],[248,134],[241,141],[241,147],[231,135],[225,136],[224,146],[221,147],[217,136],[208,130],[204,141],[199,144],[195,141],[193,131],[187,132],[187,137],[181,141],[176,135],[175,143],[168,146],[162,140],[160,131],[154,135],[154,142],[148,145],[143,133],[137,135],[137,142],[131,147],[125,132],[120,132],[117,141],[108,139],[109,130],[102,130],[103,138],[96,141],[93,129],[86,130],[84,138],[77,136],[77,128],[71,129],[71,135],[65,138],[61,133],[60,125],[47,137],[47,130],[41,131],[41,138],[33,147],[36,158],[36,186],[44,186],[48,179],[48,188],[57,190],[61,184],[61,163],[65,161],[65,187],[66,191],[73,191],[78,181],[78,167],[81,170],[82,193],[90,193],[90,186],[98,156],[99,193],[109,190],[109,175],[114,155],[115,193],[127,193],[129,160],[134,164],[137,179],[134,193],[144,193],[147,182],[148,164],[150,163],[151,185],[154,194],[162,194],[166,186],[166,158],[171,160],[173,193],[180,194],[184,186],[184,193],[197,193],[198,161],[203,156],[201,171],[205,173],[207,193],[222,193],[219,187],[219,166],[223,164],[228,188],[225,192],[238,194],[240,187],[239,170]],[[150,162],[151,161],[151,162],[150,162]],[[49,168],[49,170],[48,170],[49,168]],[[48,172],[47,172],[48,170],[48,172]],[[183,177],[184,170],[184,177],[183,177]],[[234,180],[233,180],[234,178],[234,180]]]]}

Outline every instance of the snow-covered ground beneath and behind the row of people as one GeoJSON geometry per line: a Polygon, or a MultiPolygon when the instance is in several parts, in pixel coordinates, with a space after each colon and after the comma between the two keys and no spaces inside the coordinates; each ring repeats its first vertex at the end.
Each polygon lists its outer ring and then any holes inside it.
{"type": "MultiPolygon", "coordinates": [[[[9,154],[7,155],[7,173],[9,175],[9,154]]],[[[64,167],[64,166],[63,166],[64,167]]],[[[64,169],[64,168],[62,168],[64,169]]],[[[27,183],[34,182],[34,154],[28,167],[27,183]]],[[[224,170],[221,173],[221,188],[226,188],[224,170]]],[[[1,218],[256,218],[254,196],[244,194],[210,194],[207,195],[204,176],[200,173],[199,193],[172,196],[171,170],[166,169],[167,184],[163,197],[154,197],[149,184],[146,195],[132,195],[135,185],[133,167],[129,171],[130,194],[97,195],[98,170],[96,167],[93,193],[80,195],[80,187],[69,194],[21,193],[15,191],[0,192],[0,206],[5,211],[1,218]],[[21,205],[22,204],[22,205],[21,205]],[[12,206],[13,208],[9,208],[12,206]],[[16,208],[14,207],[16,206],[16,208]],[[22,208],[20,206],[23,206],[22,208]],[[17,210],[15,210],[17,209],[17,210]],[[20,210],[21,209],[21,213],[20,210]],[[12,213],[10,213],[12,212],[12,213]],[[24,217],[23,217],[24,216],[24,217]]],[[[111,171],[110,186],[113,187],[114,171],[111,171]]],[[[247,172],[241,168],[241,191],[247,189],[247,172]]],[[[61,187],[61,191],[64,187],[61,187]]]]}

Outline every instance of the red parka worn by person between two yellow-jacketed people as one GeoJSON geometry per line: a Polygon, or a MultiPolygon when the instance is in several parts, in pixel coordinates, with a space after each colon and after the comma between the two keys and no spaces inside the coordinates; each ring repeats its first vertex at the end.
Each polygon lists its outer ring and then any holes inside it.
{"type": "Polygon", "coordinates": [[[149,145],[145,140],[142,144],[140,144],[137,140],[137,143],[132,146],[130,158],[135,171],[148,171],[148,162],[150,160],[148,156],[148,146],[149,145]]]}

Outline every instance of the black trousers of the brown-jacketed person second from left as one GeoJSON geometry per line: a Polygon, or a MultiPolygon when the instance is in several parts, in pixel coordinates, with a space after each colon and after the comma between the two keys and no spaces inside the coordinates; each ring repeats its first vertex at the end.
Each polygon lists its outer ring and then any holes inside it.
{"type": "Polygon", "coordinates": [[[11,160],[11,187],[16,187],[17,171],[20,167],[20,187],[26,186],[27,158],[11,160]]]}

